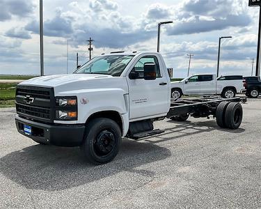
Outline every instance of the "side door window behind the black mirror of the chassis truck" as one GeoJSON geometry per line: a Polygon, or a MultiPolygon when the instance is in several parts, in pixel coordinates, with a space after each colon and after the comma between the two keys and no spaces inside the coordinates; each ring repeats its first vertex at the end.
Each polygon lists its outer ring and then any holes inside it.
{"type": "Polygon", "coordinates": [[[156,65],[156,77],[161,77],[160,69],[159,69],[159,61],[156,56],[144,56],[141,58],[136,65],[134,66],[132,72],[136,72],[139,74],[138,79],[144,78],[144,65],[145,63],[155,63],[156,65]]]}

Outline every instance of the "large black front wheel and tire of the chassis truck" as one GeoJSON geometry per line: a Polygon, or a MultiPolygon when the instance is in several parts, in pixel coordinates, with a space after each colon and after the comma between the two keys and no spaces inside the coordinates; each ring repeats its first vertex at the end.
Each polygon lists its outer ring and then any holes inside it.
{"type": "Polygon", "coordinates": [[[92,164],[106,164],[116,157],[122,134],[119,125],[109,118],[95,118],[86,126],[81,151],[92,164]]]}

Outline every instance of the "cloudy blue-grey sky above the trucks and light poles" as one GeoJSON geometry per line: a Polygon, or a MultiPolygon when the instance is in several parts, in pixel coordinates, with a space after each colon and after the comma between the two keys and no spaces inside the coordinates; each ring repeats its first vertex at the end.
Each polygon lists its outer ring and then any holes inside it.
{"type": "MultiPolygon", "coordinates": [[[[251,75],[256,57],[258,8],[248,0],[43,0],[45,74],[66,73],[88,61],[86,40],[95,40],[93,56],[113,51],[157,50],[157,22],[162,26],[161,53],[185,77],[189,59],[191,74],[216,72],[220,36],[221,74],[251,75]]],[[[40,73],[39,1],[0,0],[0,74],[40,73]]]]}

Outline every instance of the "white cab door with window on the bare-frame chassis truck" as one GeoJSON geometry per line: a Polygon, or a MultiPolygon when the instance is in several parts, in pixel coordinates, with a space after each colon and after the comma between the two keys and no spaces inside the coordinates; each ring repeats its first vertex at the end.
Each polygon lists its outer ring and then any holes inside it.
{"type": "Polygon", "coordinates": [[[132,69],[136,77],[127,77],[129,85],[129,119],[153,118],[166,114],[170,107],[171,93],[168,91],[169,77],[166,77],[164,64],[159,63],[157,56],[143,56],[132,69]],[[144,64],[155,63],[157,78],[155,80],[144,79],[144,64]]]}

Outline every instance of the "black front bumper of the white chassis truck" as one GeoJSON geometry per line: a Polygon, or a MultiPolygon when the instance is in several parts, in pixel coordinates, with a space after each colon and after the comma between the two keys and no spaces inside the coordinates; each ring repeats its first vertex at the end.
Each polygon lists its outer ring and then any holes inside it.
{"type": "Polygon", "coordinates": [[[20,134],[33,139],[41,144],[52,144],[55,146],[80,146],[84,139],[85,125],[47,125],[35,121],[29,121],[15,116],[15,123],[20,134]],[[32,134],[24,134],[24,125],[32,127],[32,134]]]}

